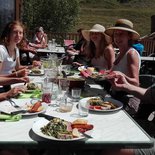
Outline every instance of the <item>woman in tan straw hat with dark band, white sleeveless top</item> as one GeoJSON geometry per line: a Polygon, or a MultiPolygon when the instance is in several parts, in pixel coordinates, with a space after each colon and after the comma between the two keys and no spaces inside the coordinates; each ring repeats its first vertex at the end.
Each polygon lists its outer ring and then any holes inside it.
{"type": "MultiPolygon", "coordinates": [[[[127,19],[118,19],[115,26],[106,29],[105,33],[113,38],[115,45],[119,48],[112,70],[121,72],[129,83],[138,86],[141,59],[132,44],[140,38],[140,35],[133,30],[133,23],[127,19]]],[[[112,95],[120,99],[126,93],[112,89],[112,95]]]]}

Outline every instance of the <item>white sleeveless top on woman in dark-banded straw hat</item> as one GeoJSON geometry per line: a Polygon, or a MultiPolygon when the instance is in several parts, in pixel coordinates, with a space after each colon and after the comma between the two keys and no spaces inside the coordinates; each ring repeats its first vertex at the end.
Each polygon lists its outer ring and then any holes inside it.
{"type": "Polygon", "coordinates": [[[140,69],[140,66],[141,66],[141,58],[140,58],[140,55],[138,53],[137,50],[135,50],[134,48],[130,48],[126,53],[125,55],[123,56],[123,58],[120,60],[120,62],[116,65],[113,66],[112,70],[113,71],[120,71],[124,74],[128,74],[128,64],[127,64],[127,54],[130,50],[133,50],[134,52],[137,53],[138,55],[138,61],[139,61],[139,69],[140,69]]]}

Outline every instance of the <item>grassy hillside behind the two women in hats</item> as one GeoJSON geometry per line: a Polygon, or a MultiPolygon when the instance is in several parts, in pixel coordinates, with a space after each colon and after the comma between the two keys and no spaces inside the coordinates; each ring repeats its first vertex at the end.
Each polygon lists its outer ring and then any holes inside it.
{"type": "Polygon", "coordinates": [[[141,36],[151,32],[151,16],[155,15],[155,0],[130,0],[120,4],[117,0],[81,0],[79,20],[74,28],[89,29],[99,23],[112,26],[116,19],[126,18],[134,23],[141,36]]]}

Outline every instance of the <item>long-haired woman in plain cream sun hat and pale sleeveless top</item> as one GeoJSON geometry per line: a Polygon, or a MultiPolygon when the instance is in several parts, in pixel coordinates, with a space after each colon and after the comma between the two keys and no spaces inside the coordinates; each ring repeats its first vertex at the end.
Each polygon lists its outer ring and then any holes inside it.
{"type": "Polygon", "coordinates": [[[95,24],[90,30],[83,30],[82,34],[89,41],[89,46],[86,50],[88,50],[90,55],[91,65],[110,69],[115,60],[115,53],[111,38],[104,32],[104,26],[95,24]]]}

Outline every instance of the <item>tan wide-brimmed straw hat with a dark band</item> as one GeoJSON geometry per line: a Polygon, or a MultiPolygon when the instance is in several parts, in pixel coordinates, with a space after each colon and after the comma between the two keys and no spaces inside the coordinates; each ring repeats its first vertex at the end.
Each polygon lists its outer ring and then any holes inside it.
{"type": "Polygon", "coordinates": [[[118,19],[114,27],[107,28],[105,33],[109,36],[113,36],[114,30],[124,30],[132,33],[132,39],[138,40],[140,35],[138,32],[133,30],[133,23],[127,19],[118,19]]]}

